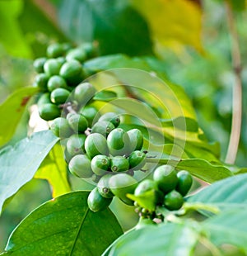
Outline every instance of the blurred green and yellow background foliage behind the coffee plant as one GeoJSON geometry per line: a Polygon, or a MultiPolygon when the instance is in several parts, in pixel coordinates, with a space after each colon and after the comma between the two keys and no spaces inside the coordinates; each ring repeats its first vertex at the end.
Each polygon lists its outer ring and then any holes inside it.
{"type": "MultiPolygon", "coordinates": [[[[231,1],[234,2],[234,1],[231,1]]],[[[245,1],[235,9],[243,61],[243,120],[236,164],[247,158],[247,13],[245,1]]],[[[16,90],[28,86],[35,76],[33,59],[45,55],[53,41],[98,41],[100,55],[156,55],[170,81],[184,88],[197,111],[198,123],[210,141],[221,144],[221,159],[231,131],[231,97],[234,73],[231,40],[222,1],[0,1],[0,103],[16,90]],[[164,8],[159,8],[161,5],[164,8]],[[185,10],[181,15],[181,9],[185,10]],[[183,9],[185,8],[185,9],[183,9]],[[148,12],[147,12],[148,11],[148,12]],[[159,12],[158,12],[159,11],[159,12]],[[157,13],[158,12],[158,13],[157,13]]],[[[9,145],[26,137],[28,111],[9,145]]],[[[11,124],[10,124],[11,125],[11,124]]],[[[1,168],[1,167],[0,167],[1,168]]],[[[72,178],[74,189],[90,185],[72,178]]],[[[0,217],[0,249],[15,226],[35,207],[51,198],[49,183],[33,179],[7,202],[0,217]]],[[[133,211],[120,202],[112,209],[124,229],[137,221],[133,211]]]]}

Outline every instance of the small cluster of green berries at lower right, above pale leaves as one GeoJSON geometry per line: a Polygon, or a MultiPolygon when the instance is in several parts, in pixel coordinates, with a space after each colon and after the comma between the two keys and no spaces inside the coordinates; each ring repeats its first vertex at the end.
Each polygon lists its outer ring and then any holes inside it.
{"type": "MultiPolygon", "coordinates": [[[[177,211],[184,204],[184,197],[189,192],[193,183],[192,175],[185,171],[175,171],[170,165],[161,165],[153,173],[153,179],[145,179],[138,184],[134,191],[136,211],[140,216],[155,218],[162,217],[156,215],[156,206],[164,206],[169,211],[177,211]],[[154,206],[153,209],[147,209],[143,196],[152,192],[148,206],[154,206]],[[142,198],[138,202],[138,198],[142,198]]],[[[145,199],[147,200],[147,198],[145,199]]]]}

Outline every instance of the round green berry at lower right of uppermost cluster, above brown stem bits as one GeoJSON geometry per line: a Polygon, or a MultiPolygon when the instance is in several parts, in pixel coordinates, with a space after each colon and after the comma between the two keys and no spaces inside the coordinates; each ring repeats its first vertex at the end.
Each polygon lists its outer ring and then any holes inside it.
{"type": "Polygon", "coordinates": [[[74,90],[74,99],[79,105],[84,106],[94,97],[96,89],[91,83],[80,83],[74,90]]]}

